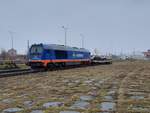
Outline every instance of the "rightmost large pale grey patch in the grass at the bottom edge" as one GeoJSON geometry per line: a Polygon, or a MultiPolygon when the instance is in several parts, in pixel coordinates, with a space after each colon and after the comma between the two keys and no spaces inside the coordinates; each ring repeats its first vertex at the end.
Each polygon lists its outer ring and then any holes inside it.
{"type": "Polygon", "coordinates": [[[102,102],[100,107],[101,107],[101,110],[103,110],[103,111],[115,111],[116,110],[116,103],[102,102]]]}

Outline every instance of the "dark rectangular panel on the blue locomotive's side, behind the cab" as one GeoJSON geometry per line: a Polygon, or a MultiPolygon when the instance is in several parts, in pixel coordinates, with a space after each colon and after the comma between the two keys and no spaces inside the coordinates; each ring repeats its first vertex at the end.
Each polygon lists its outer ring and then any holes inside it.
{"type": "Polygon", "coordinates": [[[55,50],[56,59],[67,59],[67,51],[55,50]]]}

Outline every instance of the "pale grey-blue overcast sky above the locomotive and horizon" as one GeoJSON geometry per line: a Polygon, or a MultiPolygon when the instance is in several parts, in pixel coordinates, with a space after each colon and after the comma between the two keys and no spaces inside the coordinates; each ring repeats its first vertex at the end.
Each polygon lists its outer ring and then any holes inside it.
{"type": "Polygon", "coordinates": [[[100,52],[150,48],[150,0],[0,0],[0,48],[25,53],[30,43],[67,44],[100,52]]]}

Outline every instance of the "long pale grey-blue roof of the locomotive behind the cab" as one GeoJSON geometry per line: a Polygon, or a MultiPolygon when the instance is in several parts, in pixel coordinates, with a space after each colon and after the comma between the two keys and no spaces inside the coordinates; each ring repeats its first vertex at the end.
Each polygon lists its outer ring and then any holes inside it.
{"type": "Polygon", "coordinates": [[[44,49],[89,52],[89,50],[84,48],[70,47],[58,44],[41,44],[41,45],[43,45],[44,49]]]}

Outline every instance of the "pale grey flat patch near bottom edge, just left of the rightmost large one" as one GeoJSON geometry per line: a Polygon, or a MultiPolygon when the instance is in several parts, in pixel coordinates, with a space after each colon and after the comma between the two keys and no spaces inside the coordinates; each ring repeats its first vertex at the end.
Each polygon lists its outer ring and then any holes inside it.
{"type": "Polygon", "coordinates": [[[71,109],[87,109],[90,103],[84,101],[76,101],[70,108],[71,109]]]}

